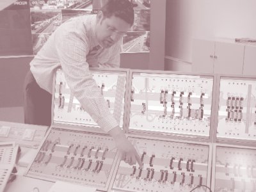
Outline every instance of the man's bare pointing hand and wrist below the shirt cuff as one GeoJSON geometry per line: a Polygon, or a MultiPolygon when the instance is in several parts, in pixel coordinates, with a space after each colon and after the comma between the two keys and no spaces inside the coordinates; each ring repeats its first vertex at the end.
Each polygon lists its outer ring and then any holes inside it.
{"type": "Polygon", "coordinates": [[[113,137],[116,143],[116,148],[118,148],[118,150],[120,150],[120,152],[122,153],[122,160],[124,160],[125,163],[132,165],[138,162],[140,167],[143,166],[138,152],[136,151],[132,143],[127,140],[124,132],[122,132],[120,127],[115,127],[111,129],[111,131],[109,131],[109,134],[113,137]]]}

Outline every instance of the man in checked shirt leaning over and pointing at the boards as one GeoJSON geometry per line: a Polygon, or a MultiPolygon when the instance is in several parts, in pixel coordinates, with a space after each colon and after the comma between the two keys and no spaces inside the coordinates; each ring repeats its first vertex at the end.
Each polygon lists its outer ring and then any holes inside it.
{"type": "Polygon", "coordinates": [[[136,149],[125,138],[106,100],[92,79],[90,66],[119,67],[122,36],[134,22],[128,0],[109,0],[97,15],[67,20],[30,63],[25,79],[26,124],[51,125],[51,93],[55,69],[63,69],[70,90],[93,120],[114,139],[126,163],[142,165],[136,149]]]}

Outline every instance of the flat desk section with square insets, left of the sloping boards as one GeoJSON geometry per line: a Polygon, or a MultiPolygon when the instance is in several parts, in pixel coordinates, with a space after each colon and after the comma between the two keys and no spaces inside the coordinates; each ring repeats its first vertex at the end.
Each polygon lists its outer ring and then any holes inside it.
{"type": "Polygon", "coordinates": [[[48,127],[0,122],[0,141],[15,141],[20,147],[38,148],[48,127]]]}

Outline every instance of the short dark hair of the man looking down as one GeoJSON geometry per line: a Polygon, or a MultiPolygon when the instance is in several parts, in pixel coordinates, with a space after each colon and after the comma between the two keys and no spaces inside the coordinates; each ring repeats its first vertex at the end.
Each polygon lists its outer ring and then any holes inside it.
{"type": "Polygon", "coordinates": [[[102,6],[101,11],[104,17],[119,17],[125,22],[131,24],[131,26],[134,22],[133,6],[128,0],[108,0],[108,3],[102,6]]]}

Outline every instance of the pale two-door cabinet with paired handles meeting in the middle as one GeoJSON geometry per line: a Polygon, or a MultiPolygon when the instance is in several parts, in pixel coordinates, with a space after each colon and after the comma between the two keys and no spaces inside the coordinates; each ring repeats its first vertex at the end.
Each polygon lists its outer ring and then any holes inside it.
{"type": "Polygon", "coordinates": [[[245,45],[231,40],[193,40],[193,72],[243,74],[245,45]]]}

